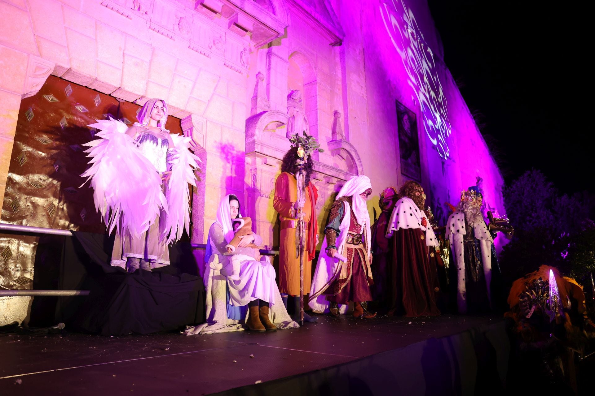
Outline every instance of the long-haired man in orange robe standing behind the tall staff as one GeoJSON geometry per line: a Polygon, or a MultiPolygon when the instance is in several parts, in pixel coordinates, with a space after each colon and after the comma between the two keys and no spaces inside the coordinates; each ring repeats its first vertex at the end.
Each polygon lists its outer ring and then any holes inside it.
{"type": "MultiPolygon", "coordinates": [[[[299,317],[299,258],[296,257],[296,211],[297,182],[295,173],[297,171],[297,147],[292,147],[283,157],[281,164],[281,175],[275,181],[275,197],[273,207],[279,214],[281,235],[279,238],[279,291],[283,299],[287,299],[289,311],[294,317],[299,317]],[[289,296],[285,296],[289,295],[289,296]],[[293,311],[292,311],[293,308],[293,311]]],[[[310,176],[314,170],[311,159],[305,163],[305,202],[303,204],[303,220],[305,230],[305,252],[303,253],[303,290],[308,293],[312,280],[312,259],[316,255],[318,245],[318,221],[316,218],[316,201],[318,189],[310,182],[310,176]]],[[[307,299],[305,298],[307,301],[307,299]]],[[[312,316],[304,313],[304,321],[315,322],[312,316]]]]}

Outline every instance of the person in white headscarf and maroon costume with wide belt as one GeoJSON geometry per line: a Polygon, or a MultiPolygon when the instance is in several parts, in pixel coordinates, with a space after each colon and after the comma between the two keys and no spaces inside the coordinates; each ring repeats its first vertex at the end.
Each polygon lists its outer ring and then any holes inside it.
{"type": "Polygon", "coordinates": [[[368,311],[370,286],[370,218],[366,198],[372,193],[367,176],[353,176],[339,191],[324,229],[318,265],[312,280],[309,305],[314,312],[339,316],[349,301],[355,303],[353,316],[374,318],[368,311]],[[340,261],[336,255],[345,256],[340,261]],[[330,306],[329,306],[330,305],[330,306]]]}

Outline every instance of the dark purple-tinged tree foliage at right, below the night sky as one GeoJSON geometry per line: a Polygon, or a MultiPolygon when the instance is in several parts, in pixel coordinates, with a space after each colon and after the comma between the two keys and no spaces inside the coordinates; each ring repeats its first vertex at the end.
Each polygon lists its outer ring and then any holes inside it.
{"type": "Polygon", "coordinates": [[[509,279],[547,264],[581,284],[590,284],[590,273],[595,270],[593,199],[587,194],[560,194],[535,169],[507,186],[504,198],[506,214],[515,227],[501,259],[509,279]]]}

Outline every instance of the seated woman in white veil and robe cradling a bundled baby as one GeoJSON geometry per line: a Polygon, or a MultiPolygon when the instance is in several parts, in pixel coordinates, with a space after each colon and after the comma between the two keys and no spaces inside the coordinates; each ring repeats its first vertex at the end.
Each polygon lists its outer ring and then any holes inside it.
{"type": "Polygon", "coordinates": [[[226,246],[234,237],[231,220],[240,217],[239,200],[235,195],[226,195],[217,210],[217,221],[209,229],[206,248],[208,264],[204,279],[208,323],[187,328],[186,335],[242,330],[237,319],[243,306],[248,306],[249,311],[246,330],[262,332],[298,327],[283,305],[273,266],[268,261],[256,261],[258,248],[249,246],[261,245],[262,237],[254,233],[243,235],[233,255],[228,253],[226,246]],[[239,261],[236,271],[233,271],[233,261],[239,261]],[[221,288],[223,279],[227,283],[226,291],[221,288]]]}

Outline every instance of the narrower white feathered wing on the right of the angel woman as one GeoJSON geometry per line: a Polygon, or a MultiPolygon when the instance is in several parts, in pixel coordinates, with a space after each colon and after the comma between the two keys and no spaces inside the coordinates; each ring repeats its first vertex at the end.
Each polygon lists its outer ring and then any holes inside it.
{"type": "Polygon", "coordinates": [[[184,229],[190,235],[190,190],[188,185],[196,186],[194,171],[199,169],[197,161],[201,161],[189,150],[192,138],[181,135],[171,135],[171,138],[174,141],[174,148],[177,149],[179,160],[174,161],[171,166],[171,176],[165,192],[168,215],[162,235],[167,237],[167,243],[177,242],[184,233],[184,229]]]}

